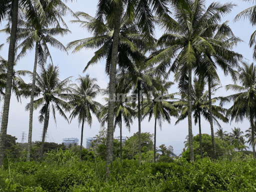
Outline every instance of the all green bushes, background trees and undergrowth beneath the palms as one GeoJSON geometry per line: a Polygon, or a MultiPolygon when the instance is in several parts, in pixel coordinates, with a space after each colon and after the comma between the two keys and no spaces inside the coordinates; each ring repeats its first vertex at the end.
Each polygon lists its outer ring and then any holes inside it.
{"type": "MultiPolygon", "coordinates": [[[[189,161],[189,150],[181,157],[173,157],[173,149],[160,145],[156,163],[152,163],[153,135],[141,133],[141,162],[137,147],[138,132],[128,138],[119,160],[119,140],[114,140],[114,160],[109,166],[105,182],[106,138],[99,133],[90,149],[72,145],[44,143],[48,151],[40,161],[40,142],[32,144],[26,160],[27,144],[16,143],[8,135],[5,143],[6,158],[0,168],[0,191],[253,191],[256,161],[252,153],[238,151],[235,142],[215,138],[216,154],[213,160],[211,136],[202,134],[203,159],[200,159],[199,135],[194,136],[195,161],[189,161]],[[132,149],[136,148],[136,151],[132,149]],[[39,149],[37,151],[36,149],[39,149]],[[11,151],[11,153],[9,153],[11,151]],[[16,151],[16,152],[15,152],[16,151]],[[15,153],[13,153],[15,152],[15,153]],[[9,155],[12,154],[12,155],[9,155]],[[80,160],[80,157],[82,160],[80,160]]],[[[232,136],[230,136],[232,139],[232,136]]],[[[234,140],[234,139],[232,139],[234,140]]]]}

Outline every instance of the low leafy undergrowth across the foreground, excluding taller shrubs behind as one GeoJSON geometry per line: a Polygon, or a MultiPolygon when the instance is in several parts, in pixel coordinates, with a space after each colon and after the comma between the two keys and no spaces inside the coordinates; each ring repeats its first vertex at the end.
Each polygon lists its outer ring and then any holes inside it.
{"type": "Polygon", "coordinates": [[[256,161],[204,158],[193,163],[116,159],[105,182],[105,162],[9,162],[0,169],[0,191],[255,191],[256,161]]]}

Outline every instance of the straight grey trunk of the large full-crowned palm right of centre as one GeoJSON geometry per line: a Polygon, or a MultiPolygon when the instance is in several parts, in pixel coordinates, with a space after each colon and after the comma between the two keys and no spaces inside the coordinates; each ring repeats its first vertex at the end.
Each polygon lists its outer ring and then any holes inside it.
{"type": "Polygon", "coordinates": [[[188,69],[188,92],[187,92],[187,116],[188,116],[188,146],[190,161],[194,161],[193,133],[192,133],[192,108],[191,108],[191,86],[192,86],[192,67],[188,69]]]}

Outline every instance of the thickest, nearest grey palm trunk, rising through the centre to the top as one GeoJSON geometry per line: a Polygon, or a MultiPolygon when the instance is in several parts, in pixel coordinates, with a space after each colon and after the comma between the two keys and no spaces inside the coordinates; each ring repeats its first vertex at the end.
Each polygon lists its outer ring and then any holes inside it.
{"type": "Polygon", "coordinates": [[[115,5],[115,24],[113,32],[113,43],[111,53],[111,65],[109,71],[109,95],[108,95],[108,120],[107,120],[107,137],[106,137],[106,181],[109,177],[109,164],[113,160],[113,133],[114,133],[114,94],[116,78],[116,62],[118,52],[118,41],[121,20],[121,4],[115,5]]]}

